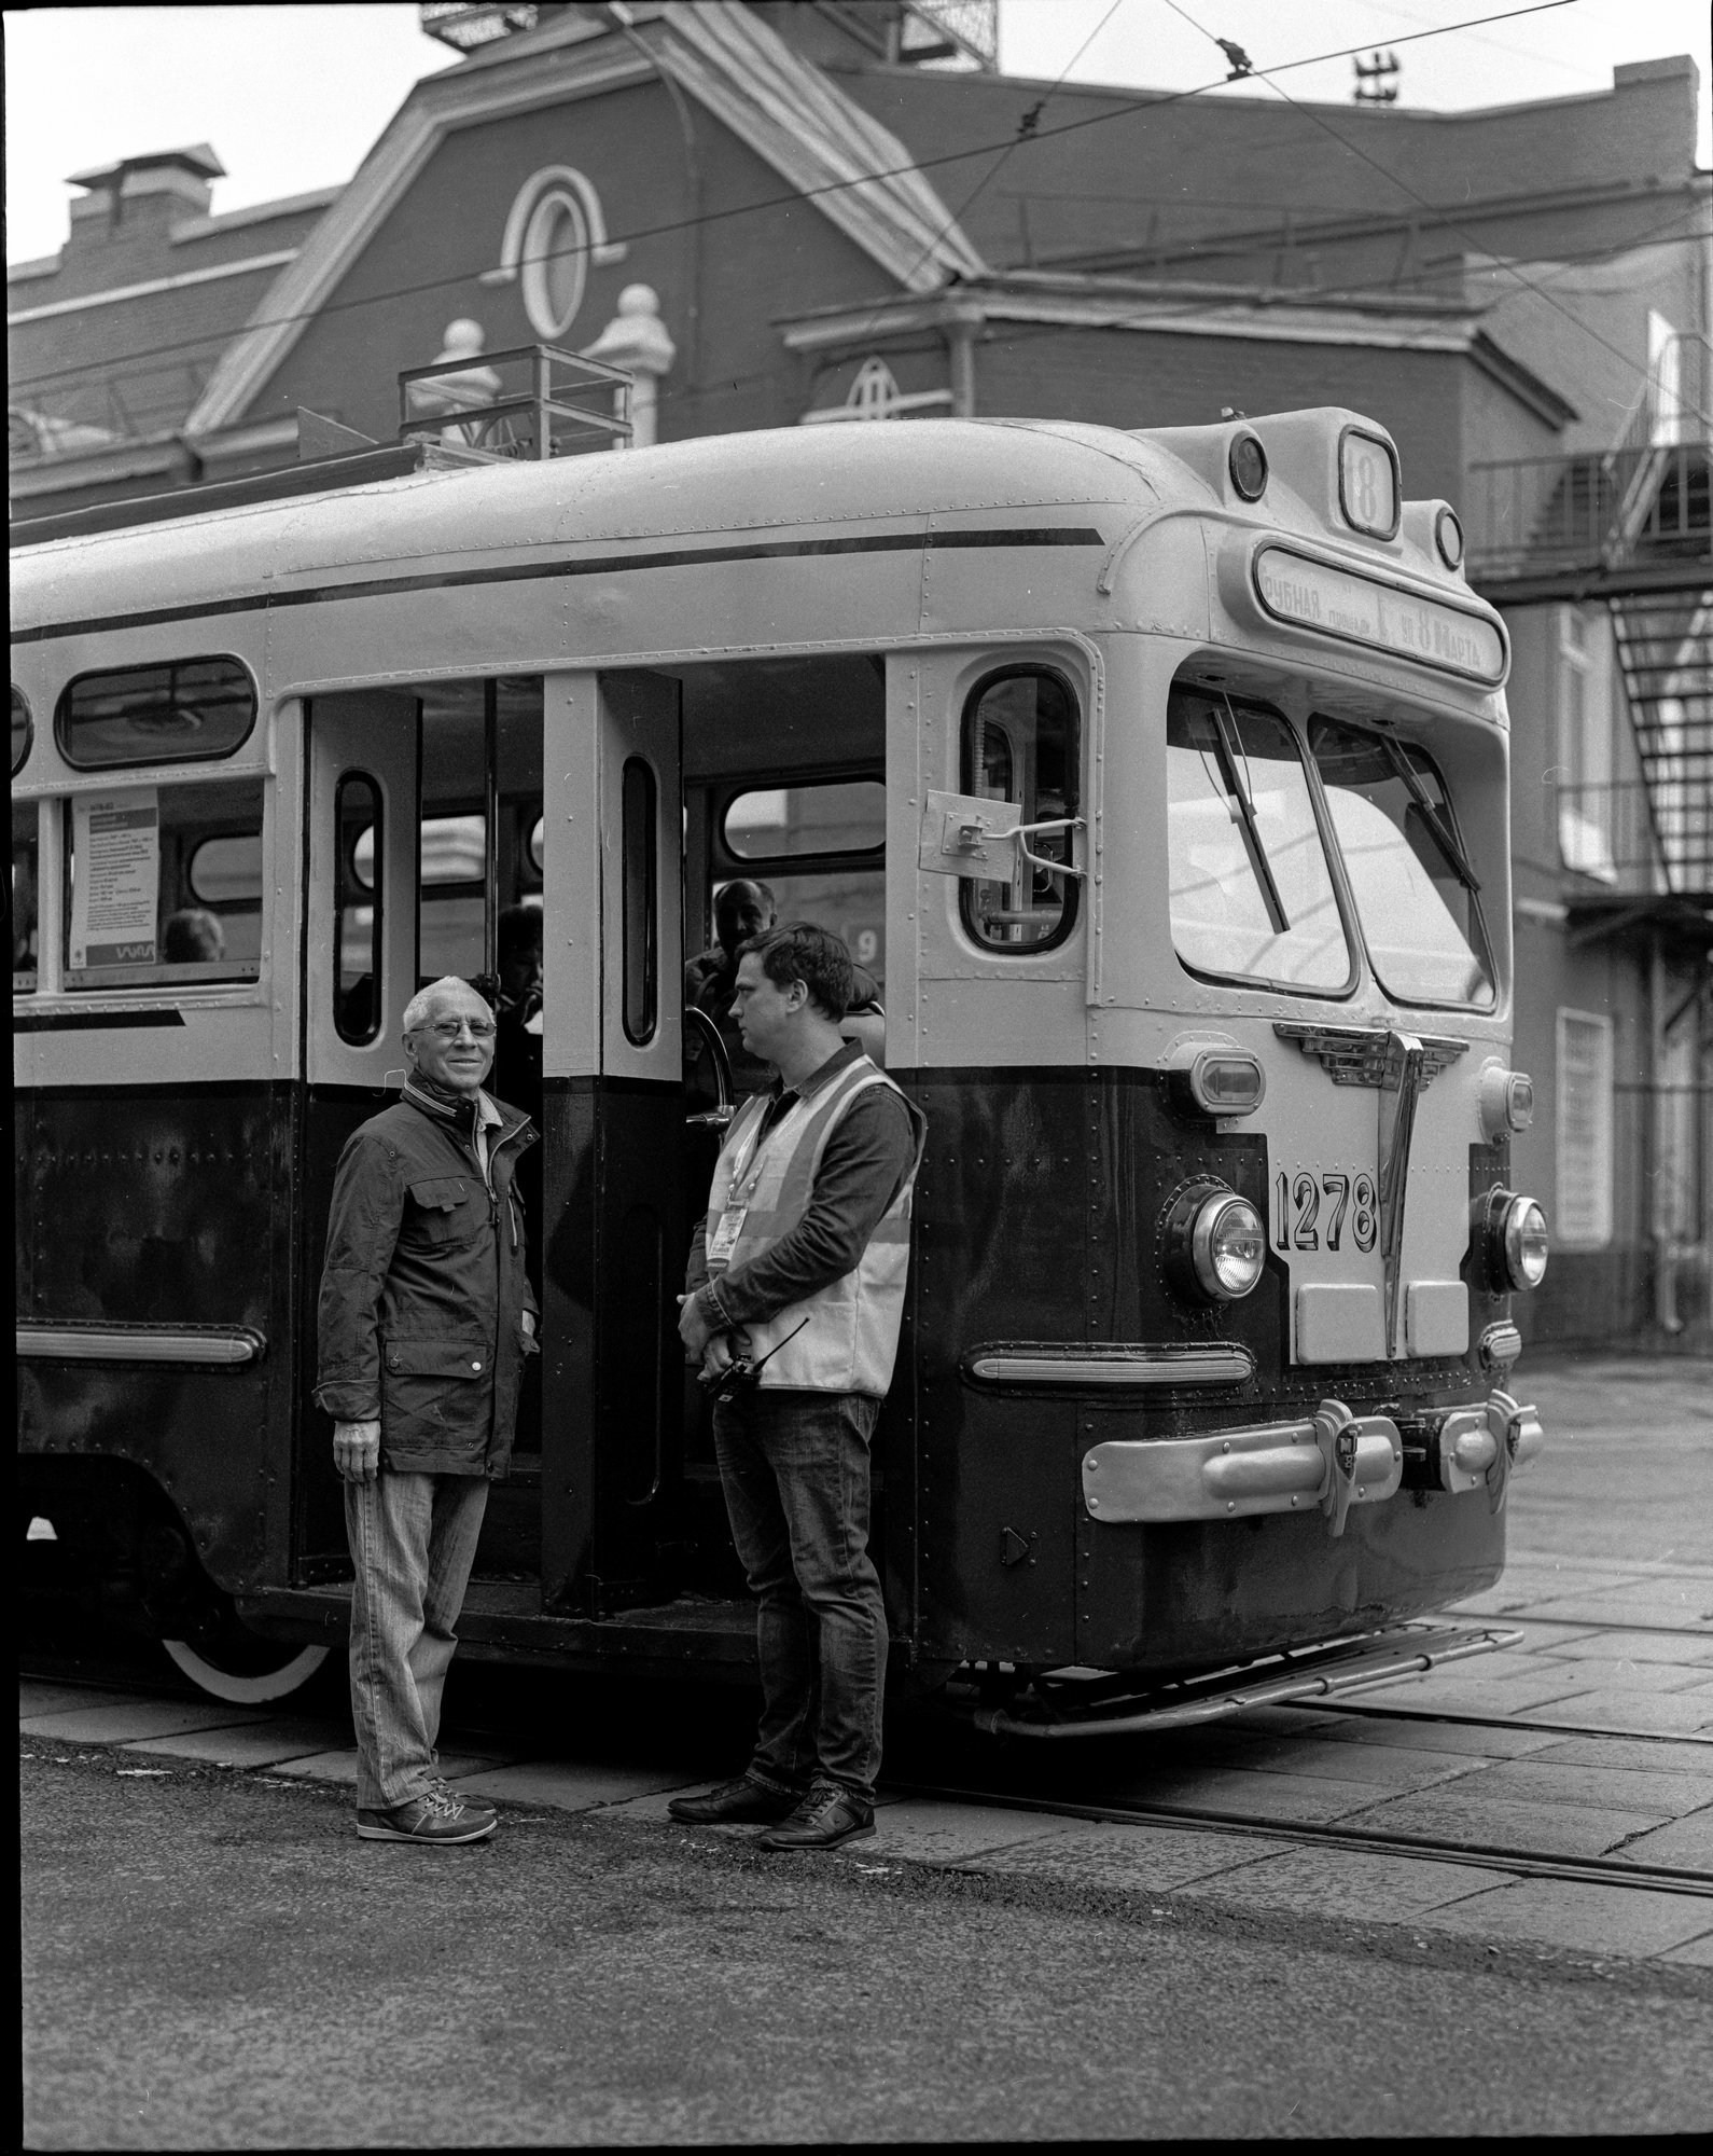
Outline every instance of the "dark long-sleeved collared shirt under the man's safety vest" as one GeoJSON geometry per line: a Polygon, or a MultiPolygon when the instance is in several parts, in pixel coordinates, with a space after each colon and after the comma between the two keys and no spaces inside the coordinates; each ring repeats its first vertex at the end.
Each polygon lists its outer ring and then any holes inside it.
{"type": "MultiPolygon", "coordinates": [[[[845,1041],[793,1091],[776,1078],[756,1147],[765,1145],[767,1132],[778,1128],[797,1100],[810,1100],[860,1054],[858,1041],[845,1041]]],[[[700,1298],[702,1317],[728,1332],[842,1281],[868,1248],[868,1238],[896,1199],[914,1158],[909,1110],[892,1087],[871,1084],[858,1093],[827,1134],[808,1210],[786,1235],[709,1281],[707,1220],[700,1222],[690,1248],[685,1289],[700,1298]]]]}

